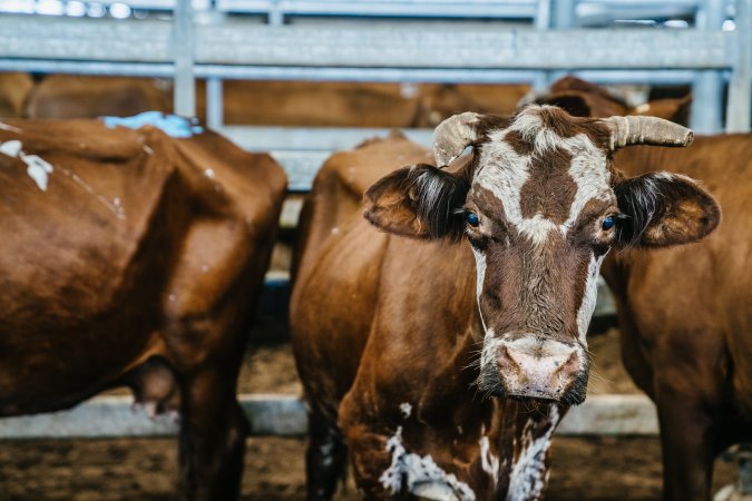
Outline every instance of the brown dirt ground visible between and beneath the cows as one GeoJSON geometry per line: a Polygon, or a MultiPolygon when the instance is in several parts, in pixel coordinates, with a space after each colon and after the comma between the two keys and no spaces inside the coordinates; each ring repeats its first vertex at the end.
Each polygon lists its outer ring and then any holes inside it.
{"type": "MultiPolygon", "coordinates": [[[[617,332],[592,337],[590,393],[637,390],[619,362],[617,332]]],[[[241,375],[243,393],[300,393],[289,344],[254,347],[241,375]]],[[[304,499],[302,438],[247,441],[243,500],[304,499]]],[[[734,468],[716,464],[716,489],[734,468]]],[[[175,499],[177,446],[166,439],[0,442],[0,501],[166,501],[175,499]]],[[[557,438],[547,500],[658,500],[656,438],[557,438]]],[[[354,500],[350,484],[339,500],[354,500]]]]}

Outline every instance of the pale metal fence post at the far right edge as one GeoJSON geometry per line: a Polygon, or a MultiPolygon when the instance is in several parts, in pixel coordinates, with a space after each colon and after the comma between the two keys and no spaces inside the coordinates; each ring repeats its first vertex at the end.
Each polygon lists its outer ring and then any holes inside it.
{"type": "MultiPolygon", "coordinates": [[[[729,82],[726,132],[749,132],[752,114],[752,0],[736,0],[736,60],[729,82]]],[[[751,466],[752,468],[752,466],[751,466]]],[[[752,490],[752,489],[751,489],[752,490]]]]}

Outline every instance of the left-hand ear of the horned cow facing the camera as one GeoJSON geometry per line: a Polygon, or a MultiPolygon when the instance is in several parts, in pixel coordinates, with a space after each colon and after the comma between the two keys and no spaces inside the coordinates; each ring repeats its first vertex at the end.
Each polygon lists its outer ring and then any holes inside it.
{"type": "Polygon", "coordinates": [[[365,191],[363,215],[395,235],[458,239],[465,230],[460,208],[469,187],[463,171],[451,174],[427,164],[404,167],[365,191]]]}

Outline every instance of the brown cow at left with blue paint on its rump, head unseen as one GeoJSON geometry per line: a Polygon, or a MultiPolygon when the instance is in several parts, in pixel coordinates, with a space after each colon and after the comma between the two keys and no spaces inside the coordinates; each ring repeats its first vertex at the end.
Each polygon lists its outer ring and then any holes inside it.
{"type": "Polygon", "coordinates": [[[236,379],[285,175],[180,117],[119,124],[0,124],[0,416],[127,385],[179,420],[185,498],[236,499],[236,379]]]}

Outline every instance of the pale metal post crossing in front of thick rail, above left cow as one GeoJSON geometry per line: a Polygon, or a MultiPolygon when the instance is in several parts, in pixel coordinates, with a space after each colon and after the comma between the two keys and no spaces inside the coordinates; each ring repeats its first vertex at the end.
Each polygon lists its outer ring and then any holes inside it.
{"type": "Polygon", "coordinates": [[[173,57],[175,59],[174,107],[177,115],[196,115],[196,82],[193,75],[193,6],[175,0],[173,13],[173,57]]]}

